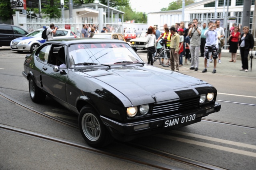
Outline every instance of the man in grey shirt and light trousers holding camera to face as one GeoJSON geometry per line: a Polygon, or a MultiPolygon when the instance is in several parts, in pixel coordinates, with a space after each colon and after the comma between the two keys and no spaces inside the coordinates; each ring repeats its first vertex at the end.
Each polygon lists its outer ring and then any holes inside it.
{"type": "Polygon", "coordinates": [[[199,49],[201,44],[201,27],[198,27],[198,20],[194,18],[193,27],[189,29],[188,36],[190,36],[190,54],[191,54],[191,66],[190,70],[198,70],[199,64],[199,49]]]}

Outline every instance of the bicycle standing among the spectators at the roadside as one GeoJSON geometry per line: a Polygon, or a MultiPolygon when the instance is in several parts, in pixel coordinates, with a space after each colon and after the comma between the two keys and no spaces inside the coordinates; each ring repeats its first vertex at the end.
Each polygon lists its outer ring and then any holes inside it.
{"type": "Polygon", "coordinates": [[[170,49],[166,48],[166,40],[162,39],[159,43],[162,45],[155,58],[159,58],[159,62],[163,67],[169,67],[170,63],[170,49]]]}

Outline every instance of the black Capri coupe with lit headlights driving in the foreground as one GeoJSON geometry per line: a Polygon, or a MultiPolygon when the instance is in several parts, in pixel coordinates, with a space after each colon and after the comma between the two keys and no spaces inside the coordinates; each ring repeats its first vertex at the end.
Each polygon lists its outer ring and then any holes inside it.
{"type": "Polygon", "coordinates": [[[22,74],[34,102],[47,95],[79,115],[91,146],[194,124],[221,107],[213,86],[147,65],[121,40],[48,41],[28,54],[22,74]]]}

